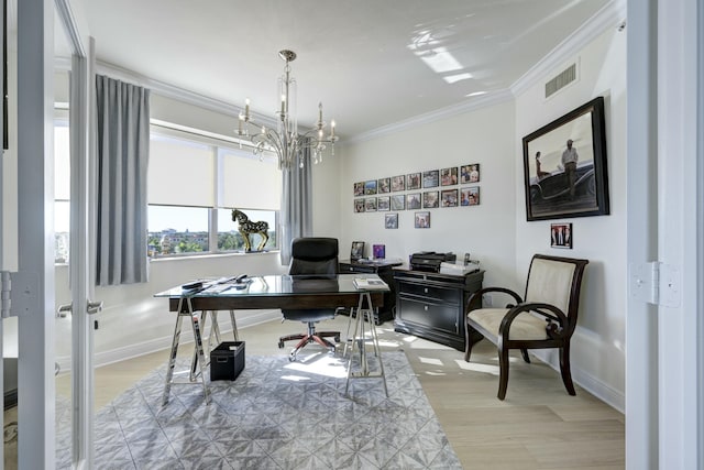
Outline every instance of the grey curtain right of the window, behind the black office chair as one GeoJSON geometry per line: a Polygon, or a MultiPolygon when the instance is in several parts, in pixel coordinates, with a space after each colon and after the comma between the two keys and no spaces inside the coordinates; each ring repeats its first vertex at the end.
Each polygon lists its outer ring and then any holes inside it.
{"type": "Polygon", "coordinates": [[[312,236],[312,164],[305,150],[304,167],[283,170],[280,261],[290,263],[290,242],[298,237],[312,236]]]}

